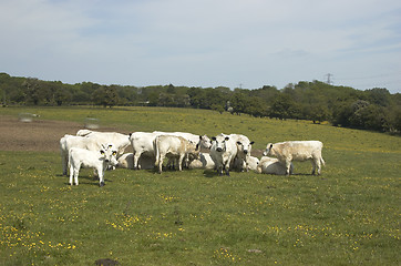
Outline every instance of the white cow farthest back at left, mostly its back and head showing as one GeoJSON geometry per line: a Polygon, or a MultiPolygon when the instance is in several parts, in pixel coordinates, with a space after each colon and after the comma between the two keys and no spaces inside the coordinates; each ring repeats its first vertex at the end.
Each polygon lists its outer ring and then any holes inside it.
{"type": "Polygon", "coordinates": [[[130,136],[117,132],[99,132],[90,130],[80,130],[76,135],[91,137],[97,140],[101,143],[113,143],[117,149],[117,156],[122,155],[125,149],[131,144],[130,136]]]}

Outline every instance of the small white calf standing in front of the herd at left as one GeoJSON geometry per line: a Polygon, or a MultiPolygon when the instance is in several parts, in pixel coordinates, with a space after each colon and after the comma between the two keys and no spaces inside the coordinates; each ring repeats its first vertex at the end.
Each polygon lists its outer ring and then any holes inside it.
{"type": "Polygon", "coordinates": [[[117,151],[113,149],[113,145],[103,146],[103,149],[97,152],[81,147],[71,147],[69,151],[70,185],[73,185],[73,177],[75,185],[79,184],[78,176],[81,167],[90,167],[97,172],[100,186],[104,186],[104,172],[109,165],[117,165],[116,155],[117,151]]]}

